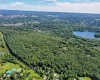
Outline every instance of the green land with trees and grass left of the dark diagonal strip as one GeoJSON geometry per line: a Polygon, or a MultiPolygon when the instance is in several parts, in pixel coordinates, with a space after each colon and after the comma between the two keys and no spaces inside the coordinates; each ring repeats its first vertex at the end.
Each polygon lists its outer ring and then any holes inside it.
{"type": "Polygon", "coordinates": [[[11,79],[25,79],[25,80],[43,80],[37,73],[32,69],[27,67],[25,64],[16,60],[12,55],[9,54],[9,51],[6,47],[6,44],[3,39],[3,34],[0,33],[0,78],[4,80],[11,79]],[[15,72],[12,72],[13,68],[17,69],[15,72]],[[17,72],[21,70],[20,72],[17,72]],[[7,74],[7,71],[11,71],[11,75],[7,74]],[[15,77],[15,75],[17,75],[15,77]],[[2,77],[3,76],[3,77],[2,77]]]}

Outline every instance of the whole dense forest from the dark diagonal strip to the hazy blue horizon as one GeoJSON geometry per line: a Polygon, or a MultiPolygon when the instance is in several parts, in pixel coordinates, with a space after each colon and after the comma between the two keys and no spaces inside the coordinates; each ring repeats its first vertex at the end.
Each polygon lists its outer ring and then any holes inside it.
{"type": "Polygon", "coordinates": [[[0,31],[12,54],[41,77],[100,80],[100,40],[73,34],[73,31],[85,30],[100,33],[99,14],[2,10],[2,15],[0,31]],[[7,18],[23,14],[26,17],[7,18]],[[13,25],[17,23],[22,24],[13,25]]]}

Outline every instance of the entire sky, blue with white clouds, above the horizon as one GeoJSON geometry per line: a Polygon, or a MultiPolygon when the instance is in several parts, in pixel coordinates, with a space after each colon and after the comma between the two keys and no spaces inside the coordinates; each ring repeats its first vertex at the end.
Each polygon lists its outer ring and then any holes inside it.
{"type": "Polygon", "coordinates": [[[0,0],[0,9],[100,14],[100,0],[0,0]]]}

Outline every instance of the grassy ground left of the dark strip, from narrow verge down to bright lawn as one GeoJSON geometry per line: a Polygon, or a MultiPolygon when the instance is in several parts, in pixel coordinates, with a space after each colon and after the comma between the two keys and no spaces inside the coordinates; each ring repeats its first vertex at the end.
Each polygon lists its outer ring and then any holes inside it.
{"type": "MultiPolygon", "coordinates": [[[[30,73],[25,80],[29,80],[30,77],[33,77],[33,80],[43,80],[43,78],[41,78],[37,73],[35,73],[34,70],[30,69],[29,67],[27,67],[24,63],[17,61],[17,64],[14,63],[10,63],[10,62],[3,62],[2,63],[2,58],[3,55],[5,54],[9,54],[9,50],[6,47],[6,44],[4,42],[3,39],[3,34],[0,32],[0,75],[5,74],[6,71],[11,71],[13,68],[16,69],[23,69],[23,73],[30,73]]],[[[12,55],[11,55],[12,56],[12,55]]]]}

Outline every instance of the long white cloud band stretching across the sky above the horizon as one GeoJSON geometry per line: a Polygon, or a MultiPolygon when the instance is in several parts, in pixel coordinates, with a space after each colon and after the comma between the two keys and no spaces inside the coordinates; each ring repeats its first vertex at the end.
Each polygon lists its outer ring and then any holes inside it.
{"type": "MultiPolygon", "coordinates": [[[[56,0],[52,0],[56,1],[56,0]]],[[[99,13],[100,2],[95,3],[70,3],[57,2],[54,5],[29,5],[23,2],[15,2],[14,4],[2,4],[1,9],[12,10],[31,10],[31,11],[52,11],[52,12],[77,12],[77,13],[99,13]],[[13,7],[12,7],[13,6],[13,7]]]]}

